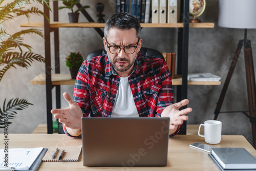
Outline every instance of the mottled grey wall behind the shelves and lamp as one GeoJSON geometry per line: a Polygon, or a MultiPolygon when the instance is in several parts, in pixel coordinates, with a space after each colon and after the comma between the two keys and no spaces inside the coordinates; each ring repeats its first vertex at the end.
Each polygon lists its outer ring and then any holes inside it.
{"type": "MultiPolygon", "coordinates": [[[[82,5],[90,5],[87,11],[97,20],[95,5],[102,2],[105,5],[103,14],[105,19],[115,13],[115,0],[111,1],[81,1],[82,5]]],[[[205,12],[199,17],[202,22],[215,23],[215,28],[190,28],[189,29],[189,56],[188,71],[212,72],[221,76],[221,86],[188,86],[188,106],[193,108],[187,123],[199,124],[205,120],[214,118],[214,110],[222,90],[230,58],[236,50],[239,39],[244,36],[242,29],[226,29],[218,27],[218,0],[206,2],[205,12]]],[[[38,6],[35,4],[35,6],[38,6]]],[[[38,6],[42,9],[40,6],[38,6]]],[[[59,20],[68,22],[68,10],[59,11],[59,20]]],[[[32,20],[42,20],[40,16],[33,16],[32,20]]],[[[79,22],[88,22],[81,14],[79,22]]],[[[27,23],[25,17],[12,20],[5,24],[8,32],[15,32],[20,29],[19,23],[27,23]],[[14,27],[13,27],[14,26],[14,27]]],[[[70,52],[80,51],[86,57],[91,51],[103,48],[101,37],[94,29],[90,28],[60,28],[60,70],[61,73],[69,73],[65,66],[65,57],[70,52]]],[[[176,28],[143,28],[143,47],[158,49],[161,52],[177,52],[176,28]]],[[[52,35],[52,34],[51,34],[52,35]]],[[[256,31],[248,30],[248,39],[251,40],[253,55],[255,55],[256,31]]],[[[28,35],[25,41],[33,46],[34,52],[44,55],[44,40],[39,36],[28,35]]],[[[53,46],[53,41],[51,42],[53,46]]],[[[52,49],[53,56],[53,49],[52,49]]],[[[254,60],[255,62],[255,60],[254,60]]],[[[52,64],[54,68],[54,63],[52,64]]],[[[40,85],[30,85],[30,80],[40,73],[44,73],[44,64],[35,62],[28,70],[24,68],[10,69],[0,82],[2,106],[5,98],[7,100],[15,97],[26,98],[33,106],[18,112],[13,124],[9,126],[9,133],[32,133],[37,124],[46,123],[46,88],[40,85]]],[[[174,86],[174,89],[177,87],[174,86]]],[[[53,94],[55,89],[53,89],[53,94]]],[[[73,94],[73,86],[61,86],[61,93],[73,94]]],[[[55,108],[55,98],[53,98],[53,108],[55,108]]],[[[62,98],[62,108],[66,108],[68,103],[62,98]]],[[[247,92],[245,80],[245,67],[243,51],[240,60],[231,79],[222,111],[247,110],[247,92]]],[[[249,119],[243,114],[220,114],[218,120],[223,122],[224,135],[244,135],[252,143],[251,124],[249,119]]],[[[3,132],[3,130],[0,130],[3,132]]]]}

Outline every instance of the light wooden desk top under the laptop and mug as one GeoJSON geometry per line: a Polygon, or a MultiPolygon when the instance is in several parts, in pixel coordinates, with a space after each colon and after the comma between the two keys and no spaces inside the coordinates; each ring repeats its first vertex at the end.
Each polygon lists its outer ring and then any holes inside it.
{"type": "MultiPolygon", "coordinates": [[[[4,137],[0,134],[0,137],[4,137]]],[[[1,138],[2,139],[2,138],[1,138]]],[[[9,134],[9,148],[32,148],[43,146],[76,146],[81,139],[70,138],[64,134],[9,134]]],[[[168,163],[165,167],[85,167],[82,157],[79,162],[42,162],[40,170],[219,170],[208,157],[208,153],[189,147],[190,143],[204,142],[198,135],[177,135],[170,137],[168,147],[168,163]]],[[[256,157],[256,150],[243,136],[222,136],[215,147],[244,147],[256,157]]],[[[0,144],[3,148],[4,144],[0,144]]]]}

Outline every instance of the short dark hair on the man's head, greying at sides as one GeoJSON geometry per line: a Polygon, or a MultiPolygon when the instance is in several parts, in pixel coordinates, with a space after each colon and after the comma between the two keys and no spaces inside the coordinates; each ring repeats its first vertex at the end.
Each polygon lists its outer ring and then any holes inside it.
{"type": "Polygon", "coordinates": [[[135,28],[138,39],[141,38],[141,27],[139,20],[131,13],[121,12],[112,15],[108,20],[106,20],[104,28],[104,36],[107,38],[109,30],[111,28],[117,28],[122,30],[129,30],[135,28]]]}

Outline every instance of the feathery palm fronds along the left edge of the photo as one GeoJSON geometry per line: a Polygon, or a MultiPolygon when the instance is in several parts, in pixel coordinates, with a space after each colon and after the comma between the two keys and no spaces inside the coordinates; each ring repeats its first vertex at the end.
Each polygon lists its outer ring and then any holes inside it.
{"type": "MultiPolygon", "coordinates": [[[[44,57],[33,53],[32,47],[23,42],[23,36],[26,34],[36,34],[44,38],[40,30],[27,29],[10,35],[4,28],[4,25],[2,25],[6,20],[14,19],[18,16],[26,16],[29,19],[30,14],[42,15],[49,21],[44,12],[35,7],[26,7],[30,5],[31,1],[46,5],[50,9],[48,5],[49,0],[13,0],[12,2],[8,1],[5,5],[2,5],[4,0],[0,0],[0,82],[10,68],[16,69],[16,66],[19,66],[28,69],[34,61],[46,62],[44,57]],[[27,49],[28,52],[23,52],[23,49],[27,49]]],[[[19,100],[18,98],[11,99],[7,105],[5,103],[6,99],[3,110],[0,108],[0,128],[5,127],[5,117],[13,119],[17,114],[16,110],[23,110],[29,105],[33,105],[27,102],[26,99],[19,100]]],[[[10,124],[11,122],[8,120],[6,123],[10,124]]]]}

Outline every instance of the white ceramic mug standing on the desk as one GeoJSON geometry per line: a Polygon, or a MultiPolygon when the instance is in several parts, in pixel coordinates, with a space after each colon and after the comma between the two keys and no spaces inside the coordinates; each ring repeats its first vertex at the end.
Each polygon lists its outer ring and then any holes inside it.
{"type": "Polygon", "coordinates": [[[204,137],[208,144],[218,144],[221,142],[221,121],[207,120],[204,124],[200,124],[198,135],[204,137]],[[204,135],[200,134],[201,126],[204,126],[204,135]]]}

